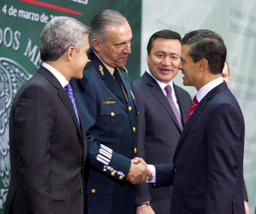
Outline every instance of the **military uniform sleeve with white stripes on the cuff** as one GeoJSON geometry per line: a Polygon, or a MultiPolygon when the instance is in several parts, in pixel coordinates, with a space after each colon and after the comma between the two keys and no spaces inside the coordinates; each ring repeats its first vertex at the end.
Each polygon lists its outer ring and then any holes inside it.
{"type": "Polygon", "coordinates": [[[84,73],[82,80],[73,79],[72,81],[73,91],[79,91],[78,93],[74,93],[74,96],[76,105],[78,106],[81,117],[83,118],[88,146],[87,156],[89,157],[90,165],[98,170],[106,168],[107,171],[105,173],[109,175],[111,174],[111,171],[117,171],[113,177],[118,180],[120,176],[126,177],[131,167],[131,160],[114,152],[104,144],[101,144],[92,134],[97,117],[97,99],[94,84],[86,73],[84,73]],[[79,87],[79,89],[76,87],[79,87]]]}

